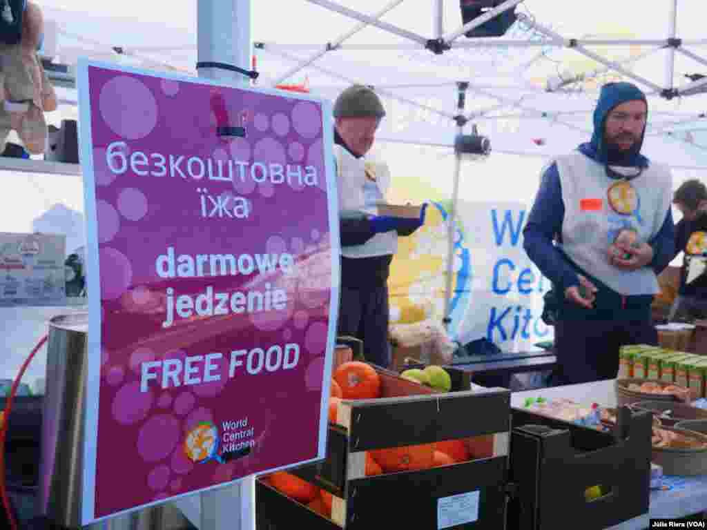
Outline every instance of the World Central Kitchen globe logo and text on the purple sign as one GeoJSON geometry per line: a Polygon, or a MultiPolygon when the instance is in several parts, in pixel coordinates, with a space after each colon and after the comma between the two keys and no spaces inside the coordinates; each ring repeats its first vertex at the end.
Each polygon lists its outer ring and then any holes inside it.
{"type": "Polygon", "coordinates": [[[197,424],[187,432],[184,451],[195,464],[206,464],[211,460],[218,464],[245,457],[250,454],[254,429],[248,427],[247,418],[223,422],[223,432],[210,421],[197,424]]]}

